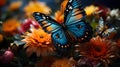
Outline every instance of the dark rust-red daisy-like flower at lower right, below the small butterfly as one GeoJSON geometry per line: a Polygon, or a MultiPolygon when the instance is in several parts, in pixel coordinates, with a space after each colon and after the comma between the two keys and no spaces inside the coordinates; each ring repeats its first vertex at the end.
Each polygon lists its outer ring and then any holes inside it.
{"type": "Polygon", "coordinates": [[[114,58],[117,54],[116,43],[99,36],[93,37],[81,49],[83,50],[82,55],[105,63],[109,63],[109,59],[114,58]]]}

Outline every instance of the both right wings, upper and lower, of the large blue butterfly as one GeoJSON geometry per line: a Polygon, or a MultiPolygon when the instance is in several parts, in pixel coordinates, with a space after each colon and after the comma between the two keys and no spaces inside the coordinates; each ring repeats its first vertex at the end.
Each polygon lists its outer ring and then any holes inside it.
{"type": "Polygon", "coordinates": [[[77,0],[69,0],[64,17],[68,31],[79,41],[88,41],[92,37],[91,26],[84,21],[85,11],[77,0]]]}

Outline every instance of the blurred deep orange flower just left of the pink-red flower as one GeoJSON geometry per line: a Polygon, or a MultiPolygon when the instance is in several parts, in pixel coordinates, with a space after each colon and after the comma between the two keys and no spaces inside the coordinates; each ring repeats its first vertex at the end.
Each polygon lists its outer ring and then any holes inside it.
{"type": "Polygon", "coordinates": [[[18,26],[20,25],[20,22],[15,19],[8,19],[6,20],[2,25],[2,31],[4,31],[7,34],[15,34],[17,33],[18,26]]]}

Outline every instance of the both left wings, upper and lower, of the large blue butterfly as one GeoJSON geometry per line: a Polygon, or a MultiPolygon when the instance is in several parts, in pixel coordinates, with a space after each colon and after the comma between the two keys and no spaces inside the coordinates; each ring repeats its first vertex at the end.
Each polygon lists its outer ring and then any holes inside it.
{"type": "Polygon", "coordinates": [[[66,51],[69,47],[67,37],[61,26],[45,14],[35,12],[33,17],[47,33],[52,34],[52,41],[58,51],[66,51]]]}

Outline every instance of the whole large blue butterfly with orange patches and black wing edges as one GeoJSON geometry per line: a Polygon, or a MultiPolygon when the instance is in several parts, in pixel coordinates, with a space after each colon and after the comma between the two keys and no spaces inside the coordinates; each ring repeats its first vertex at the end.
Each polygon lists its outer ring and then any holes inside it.
{"type": "Polygon", "coordinates": [[[39,12],[34,12],[33,17],[45,32],[52,34],[53,44],[58,51],[67,51],[73,40],[85,42],[92,37],[92,28],[85,22],[85,11],[77,0],[68,1],[62,24],[39,12]]]}

